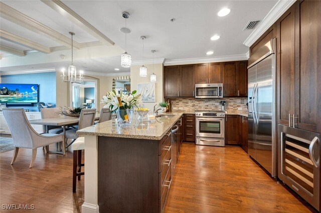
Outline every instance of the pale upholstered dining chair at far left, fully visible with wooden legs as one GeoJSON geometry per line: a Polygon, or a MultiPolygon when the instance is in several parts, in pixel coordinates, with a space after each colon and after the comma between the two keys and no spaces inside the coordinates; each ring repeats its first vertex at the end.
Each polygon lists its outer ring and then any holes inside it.
{"type": "MultiPolygon", "coordinates": [[[[32,159],[29,165],[29,168],[31,168],[34,165],[38,147],[65,141],[63,134],[39,134],[35,131],[29,123],[23,108],[3,108],[3,113],[15,145],[14,157],[11,164],[14,164],[19,148],[32,148],[32,159]]],[[[64,142],[63,150],[65,150],[64,142]]]]}

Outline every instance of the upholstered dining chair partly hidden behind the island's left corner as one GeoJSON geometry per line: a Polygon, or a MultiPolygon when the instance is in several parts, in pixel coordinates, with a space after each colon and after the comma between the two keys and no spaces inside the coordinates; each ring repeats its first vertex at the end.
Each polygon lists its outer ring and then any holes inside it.
{"type": "Polygon", "coordinates": [[[96,114],[95,108],[81,109],[78,128],[70,129],[66,131],[66,142],[68,138],[73,139],[69,144],[66,145],[66,147],[69,147],[78,138],[78,134],[77,134],[78,129],[86,128],[94,124],[95,114],[96,114]]]}

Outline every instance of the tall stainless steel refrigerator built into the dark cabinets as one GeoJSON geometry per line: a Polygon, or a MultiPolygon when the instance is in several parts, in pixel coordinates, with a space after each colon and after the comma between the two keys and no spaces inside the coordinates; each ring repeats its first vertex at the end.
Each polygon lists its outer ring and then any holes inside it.
{"type": "Polygon", "coordinates": [[[248,153],[276,176],[275,40],[249,58],[248,153]]]}

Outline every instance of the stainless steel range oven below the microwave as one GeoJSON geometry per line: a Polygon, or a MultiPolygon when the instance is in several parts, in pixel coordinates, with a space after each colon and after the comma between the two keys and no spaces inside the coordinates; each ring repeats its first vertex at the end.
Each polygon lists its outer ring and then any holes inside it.
{"type": "Polygon", "coordinates": [[[225,112],[196,111],[196,144],[225,146],[225,112]]]}

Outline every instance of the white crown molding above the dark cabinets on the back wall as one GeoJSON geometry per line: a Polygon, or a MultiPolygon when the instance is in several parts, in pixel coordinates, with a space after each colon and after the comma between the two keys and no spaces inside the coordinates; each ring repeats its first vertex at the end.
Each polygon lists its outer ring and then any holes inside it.
{"type": "Polygon", "coordinates": [[[208,62],[222,62],[222,61],[233,61],[233,60],[247,60],[245,54],[237,55],[225,55],[218,57],[197,57],[197,58],[186,58],[186,59],[174,59],[165,60],[164,65],[181,65],[190,63],[208,63],[208,62]]]}

